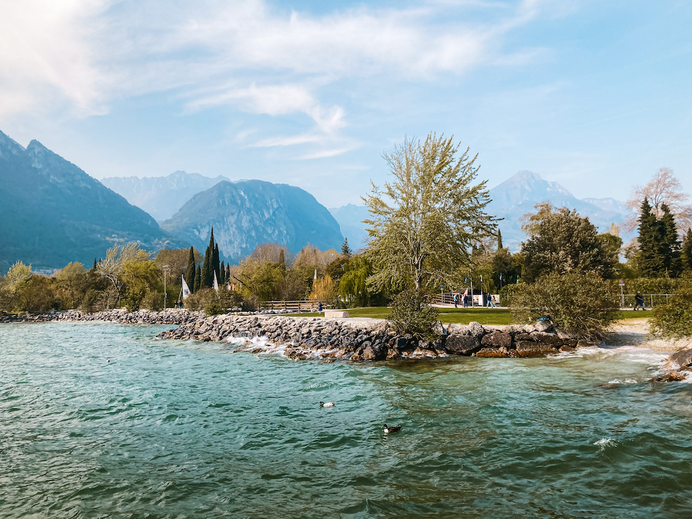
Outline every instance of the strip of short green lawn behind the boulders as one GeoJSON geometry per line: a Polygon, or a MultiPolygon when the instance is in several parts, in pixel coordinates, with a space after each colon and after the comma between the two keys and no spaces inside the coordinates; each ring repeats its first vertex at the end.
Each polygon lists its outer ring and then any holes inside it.
{"type": "MultiPolygon", "coordinates": [[[[370,317],[374,319],[385,319],[390,309],[387,307],[365,307],[353,308],[348,310],[351,317],[370,317]]],[[[300,316],[321,316],[321,313],[300,313],[300,316]]],[[[650,310],[644,311],[620,311],[620,319],[639,319],[651,316],[650,310]]],[[[512,322],[511,313],[503,308],[441,308],[439,309],[439,320],[448,325],[452,322],[459,325],[468,325],[469,322],[480,322],[482,325],[510,325],[512,322]]]]}

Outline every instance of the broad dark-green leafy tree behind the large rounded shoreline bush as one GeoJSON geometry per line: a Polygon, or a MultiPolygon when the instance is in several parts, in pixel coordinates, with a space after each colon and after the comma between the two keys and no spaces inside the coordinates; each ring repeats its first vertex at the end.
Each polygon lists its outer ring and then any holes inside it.
{"type": "Polygon", "coordinates": [[[613,275],[617,254],[604,246],[588,218],[580,217],[576,210],[554,209],[549,202],[536,204],[536,209],[535,214],[522,217],[522,230],[529,235],[521,248],[525,281],[572,271],[613,275]]]}

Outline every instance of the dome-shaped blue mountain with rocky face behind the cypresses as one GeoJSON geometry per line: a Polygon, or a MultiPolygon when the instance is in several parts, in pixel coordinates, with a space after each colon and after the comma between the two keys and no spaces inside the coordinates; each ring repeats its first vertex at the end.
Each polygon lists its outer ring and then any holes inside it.
{"type": "Polygon", "coordinates": [[[232,263],[257,244],[282,244],[297,253],[308,243],[322,251],[340,250],[343,243],[339,224],[309,192],[259,180],[221,181],[161,223],[200,251],[209,243],[212,226],[219,252],[232,263]]]}

